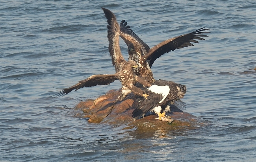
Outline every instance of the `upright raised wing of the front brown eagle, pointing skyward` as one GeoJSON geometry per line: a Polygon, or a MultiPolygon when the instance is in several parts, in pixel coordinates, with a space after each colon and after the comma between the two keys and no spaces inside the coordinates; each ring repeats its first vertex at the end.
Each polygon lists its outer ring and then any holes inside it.
{"type": "Polygon", "coordinates": [[[108,19],[108,41],[109,41],[109,53],[112,58],[113,66],[115,66],[115,71],[119,72],[122,65],[126,62],[122,56],[120,46],[119,46],[119,33],[120,26],[117,23],[117,18],[108,9],[102,8],[106,18],[108,19]]]}

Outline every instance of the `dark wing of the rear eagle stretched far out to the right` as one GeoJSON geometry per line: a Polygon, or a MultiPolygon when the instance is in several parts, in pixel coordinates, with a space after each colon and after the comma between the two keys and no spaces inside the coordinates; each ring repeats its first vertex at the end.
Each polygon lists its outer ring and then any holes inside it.
{"type": "Polygon", "coordinates": [[[158,45],[150,48],[148,53],[143,56],[143,59],[149,60],[149,66],[151,67],[154,61],[161,55],[168,53],[170,51],[174,51],[179,48],[194,46],[191,42],[198,43],[197,40],[205,40],[201,37],[208,37],[207,35],[203,35],[203,33],[210,33],[206,30],[209,30],[209,29],[200,28],[196,31],[193,31],[192,33],[180,35],[178,37],[165,40],[159,43],[158,45]]]}

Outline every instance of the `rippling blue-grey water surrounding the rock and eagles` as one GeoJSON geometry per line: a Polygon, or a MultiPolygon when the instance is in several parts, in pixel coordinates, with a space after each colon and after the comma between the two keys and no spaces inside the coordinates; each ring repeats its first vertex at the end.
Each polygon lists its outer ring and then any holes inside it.
{"type": "MultiPolygon", "coordinates": [[[[256,2],[0,1],[0,161],[254,161],[256,2]],[[167,53],[156,79],[185,84],[185,110],[210,123],[179,132],[136,134],[88,123],[72,108],[111,85],[52,98],[93,74],[115,72],[107,22],[113,11],[152,47],[211,28],[206,41],[167,53]],[[53,92],[55,91],[55,92],[53,92]]],[[[126,45],[121,50],[127,59],[126,45]]]]}

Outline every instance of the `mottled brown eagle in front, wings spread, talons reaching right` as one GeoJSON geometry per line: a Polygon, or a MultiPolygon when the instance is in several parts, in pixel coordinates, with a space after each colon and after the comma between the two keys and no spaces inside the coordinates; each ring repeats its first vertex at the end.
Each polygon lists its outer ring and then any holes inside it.
{"type": "Polygon", "coordinates": [[[145,78],[135,75],[133,68],[139,68],[139,65],[133,61],[125,61],[122,56],[119,46],[119,32],[120,27],[117,23],[115,15],[108,9],[102,8],[106,18],[108,19],[108,40],[109,40],[109,53],[112,57],[112,63],[115,65],[115,74],[99,74],[91,75],[87,79],[79,81],[76,85],[69,88],[62,89],[56,96],[64,96],[75,89],[78,90],[83,87],[92,87],[96,85],[108,85],[113,81],[119,79],[122,83],[122,93],[117,100],[122,101],[128,94],[134,92],[138,96],[147,98],[147,94],[135,86],[137,82],[141,83],[144,87],[150,87],[151,83],[145,78]]]}

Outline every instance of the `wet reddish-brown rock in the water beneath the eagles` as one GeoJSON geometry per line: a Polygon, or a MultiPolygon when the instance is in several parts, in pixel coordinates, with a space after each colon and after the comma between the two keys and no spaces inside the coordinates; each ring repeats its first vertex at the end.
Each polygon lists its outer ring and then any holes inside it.
{"type": "Polygon", "coordinates": [[[206,124],[206,122],[187,112],[182,112],[174,105],[171,107],[172,114],[168,116],[174,121],[160,121],[156,115],[149,115],[139,120],[133,120],[132,107],[134,100],[137,98],[134,94],[129,94],[124,101],[115,103],[121,92],[119,90],[110,90],[105,95],[95,99],[95,101],[81,101],[76,105],[74,110],[82,110],[76,117],[90,118],[91,123],[108,123],[112,125],[126,125],[127,129],[137,127],[139,132],[154,133],[157,130],[175,130],[195,128],[206,124]],[[150,127],[150,130],[148,129],[150,127]]]}

